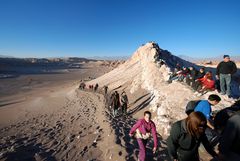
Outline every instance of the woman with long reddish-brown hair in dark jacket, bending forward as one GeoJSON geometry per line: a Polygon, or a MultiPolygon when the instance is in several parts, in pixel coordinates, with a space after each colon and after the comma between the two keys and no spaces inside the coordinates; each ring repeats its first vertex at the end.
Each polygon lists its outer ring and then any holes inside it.
{"type": "Polygon", "coordinates": [[[174,161],[199,161],[198,148],[202,143],[212,157],[217,157],[205,129],[207,120],[201,112],[192,112],[186,119],[172,125],[167,139],[168,152],[174,161]]]}

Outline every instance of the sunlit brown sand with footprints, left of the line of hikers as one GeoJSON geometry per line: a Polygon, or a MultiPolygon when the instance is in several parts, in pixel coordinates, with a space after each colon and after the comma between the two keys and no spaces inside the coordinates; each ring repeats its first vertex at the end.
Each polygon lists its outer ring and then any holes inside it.
{"type": "Polygon", "coordinates": [[[48,86],[33,86],[29,91],[1,97],[0,160],[114,158],[115,151],[107,150],[115,144],[104,120],[103,96],[77,89],[79,80],[88,78],[88,73],[97,77],[109,70],[91,67],[87,74],[71,80],[62,77],[57,83],[48,82],[48,86]]]}

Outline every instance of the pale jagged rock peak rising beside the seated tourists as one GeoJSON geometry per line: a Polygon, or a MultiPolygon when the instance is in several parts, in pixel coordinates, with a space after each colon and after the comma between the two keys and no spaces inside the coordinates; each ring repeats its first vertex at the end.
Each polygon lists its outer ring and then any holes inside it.
{"type": "Polygon", "coordinates": [[[200,99],[185,85],[166,82],[170,68],[176,63],[189,65],[189,62],[160,49],[156,43],[149,42],[139,47],[124,64],[90,81],[89,84],[108,85],[110,89],[127,86],[132,94],[139,88],[149,91],[153,97],[150,103],[150,110],[155,114],[153,120],[158,132],[166,137],[172,122],[186,117],[186,103],[189,100],[200,99]]]}

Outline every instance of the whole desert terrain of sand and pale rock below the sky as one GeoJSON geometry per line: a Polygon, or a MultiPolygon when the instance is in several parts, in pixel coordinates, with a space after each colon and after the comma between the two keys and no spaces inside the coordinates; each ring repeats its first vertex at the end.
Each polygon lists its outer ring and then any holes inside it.
{"type": "MultiPolygon", "coordinates": [[[[171,124],[186,117],[187,102],[218,94],[197,96],[184,83],[167,83],[176,63],[196,68],[206,64],[183,60],[154,42],[140,46],[126,61],[2,58],[0,62],[1,161],[137,160],[138,145],[129,131],[146,110],[153,113],[160,145],[153,155],[150,141],[147,159],[167,161],[166,138],[171,124]],[[81,82],[86,89],[79,89],[81,82]],[[99,84],[96,92],[88,88],[95,84],[99,84]],[[107,95],[104,86],[109,87],[107,95]],[[126,117],[112,116],[113,91],[126,91],[126,117]]],[[[216,66],[206,68],[215,72],[216,66]]],[[[238,97],[239,77],[238,66],[234,79],[238,97]]],[[[233,103],[222,97],[213,110],[233,103]]],[[[202,160],[211,159],[203,149],[200,154],[202,160]]]]}

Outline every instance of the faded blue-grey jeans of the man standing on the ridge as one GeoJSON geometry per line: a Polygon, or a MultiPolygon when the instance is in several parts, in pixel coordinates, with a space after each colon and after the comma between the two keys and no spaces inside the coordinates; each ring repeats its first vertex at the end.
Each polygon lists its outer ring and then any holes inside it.
{"type": "Polygon", "coordinates": [[[221,88],[222,94],[227,93],[228,96],[231,95],[231,89],[230,89],[231,79],[232,79],[231,74],[220,74],[220,88],[221,88]],[[227,87],[227,90],[225,88],[225,85],[227,87]]]}

